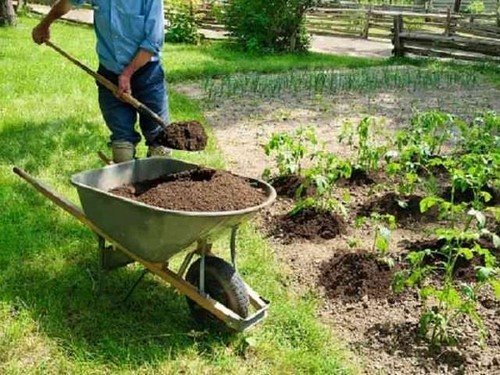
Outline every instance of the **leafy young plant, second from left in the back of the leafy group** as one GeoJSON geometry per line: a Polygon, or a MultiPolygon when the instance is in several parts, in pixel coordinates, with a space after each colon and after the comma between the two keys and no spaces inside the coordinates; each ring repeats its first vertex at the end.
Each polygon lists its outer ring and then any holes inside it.
{"type": "Polygon", "coordinates": [[[377,135],[380,135],[380,129],[372,117],[365,117],[355,128],[351,122],[344,123],[339,142],[346,140],[356,150],[354,168],[365,172],[378,170],[387,147],[377,142],[377,135]]]}

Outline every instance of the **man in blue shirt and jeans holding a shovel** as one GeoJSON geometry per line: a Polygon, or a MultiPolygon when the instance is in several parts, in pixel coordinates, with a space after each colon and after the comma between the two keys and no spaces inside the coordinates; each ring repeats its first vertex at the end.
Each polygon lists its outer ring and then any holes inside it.
{"type": "MultiPolygon", "coordinates": [[[[58,0],[33,29],[33,40],[50,38],[50,25],[85,0],[58,0]]],[[[160,63],[164,41],[162,0],[90,0],[99,56],[98,73],[118,85],[119,95],[130,93],[168,122],[165,76],[160,63]]],[[[135,131],[137,112],[98,84],[99,106],[111,131],[113,161],[135,157],[141,140],[135,131]]],[[[162,130],[146,116],[139,125],[148,145],[148,156],[167,156],[169,150],[155,142],[162,130]]]]}

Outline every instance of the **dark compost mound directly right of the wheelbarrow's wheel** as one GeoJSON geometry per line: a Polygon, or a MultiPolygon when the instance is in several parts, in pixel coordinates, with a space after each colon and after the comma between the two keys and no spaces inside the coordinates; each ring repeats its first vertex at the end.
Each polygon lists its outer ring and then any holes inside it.
{"type": "Polygon", "coordinates": [[[339,254],[321,264],[319,284],[329,298],[357,302],[363,298],[381,299],[391,294],[393,271],[374,254],[339,254]],[[365,297],[366,296],[366,297],[365,297]]]}

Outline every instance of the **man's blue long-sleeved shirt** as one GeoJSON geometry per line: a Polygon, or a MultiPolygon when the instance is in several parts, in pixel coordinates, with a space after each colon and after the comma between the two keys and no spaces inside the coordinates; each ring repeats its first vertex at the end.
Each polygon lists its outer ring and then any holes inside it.
{"type": "Polygon", "coordinates": [[[120,74],[139,48],[158,60],[164,41],[163,0],[70,0],[94,8],[99,62],[120,74]]]}

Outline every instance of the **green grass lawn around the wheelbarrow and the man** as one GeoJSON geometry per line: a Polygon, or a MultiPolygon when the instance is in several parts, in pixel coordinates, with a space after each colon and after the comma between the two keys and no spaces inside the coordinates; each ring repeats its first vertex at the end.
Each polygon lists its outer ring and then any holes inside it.
{"type": "MultiPolygon", "coordinates": [[[[95,152],[106,151],[95,83],[54,51],[35,46],[34,23],[22,18],[17,28],[0,29],[0,373],[351,372],[346,353],[315,318],[316,298],[288,290],[283,265],[251,226],[238,238],[241,274],[272,301],[269,318],[255,330],[235,336],[195,330],[184,298],[152,276],[128,302],[112,303],[137,277],[137,267],[114,272],[104,296],[95,294],[93,234],[11,171],[23,167],[77,201],[69,177],[100,166],[95,152]]],[[[52,36],[95,66],[89,28],[58,24],[52,36]]],[[[255,62],[218,48],[167,47],[171,77],[287,69],[300,59],[255,62]]],[[[180,94],[171,92],[170,106],[175,120],[203,121],[198,103],[180,94]]],[[[190,160],[224,165],[213,140],[190,160]]],[[[227,239],[215,244],[215,251],[226,248],[227,239]]]]}

